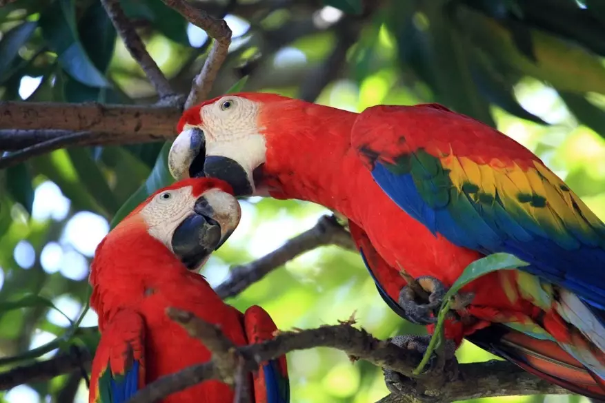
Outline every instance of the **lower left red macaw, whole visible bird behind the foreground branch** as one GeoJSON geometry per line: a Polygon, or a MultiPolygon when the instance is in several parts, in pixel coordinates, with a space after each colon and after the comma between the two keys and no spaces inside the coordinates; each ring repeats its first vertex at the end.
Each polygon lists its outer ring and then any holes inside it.
{"type": "MultiPolygon", "coordinates": [[[[186,179],[152,194],[101,241],[90,271],[90,306],[101,331],[90,403],[127,402],[157,378],[210,360],[210,351],[166,316],[167,307],[219,324],[239,346],[272,338],[277,328],[266,311],[253,306],[242,314],[194,272],[239,217],[228,183],[186,179]]],[[[265,362],[250,378],[252,402],[289,402],[285,356],[265,362]]],[[[233,397],[230,386],[209,380],[163,402],[232,403],[233,397]]]]}

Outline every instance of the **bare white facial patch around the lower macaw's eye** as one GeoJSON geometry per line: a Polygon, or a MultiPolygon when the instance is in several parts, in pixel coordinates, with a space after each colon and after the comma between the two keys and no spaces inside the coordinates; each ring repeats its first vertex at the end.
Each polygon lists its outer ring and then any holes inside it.
{"type": "Polygon", "coordinates": [[[195,198],[190,186],[161,192],[141,210],[148,232],[172,251],[175,229],[193,212],[195,198]]]}

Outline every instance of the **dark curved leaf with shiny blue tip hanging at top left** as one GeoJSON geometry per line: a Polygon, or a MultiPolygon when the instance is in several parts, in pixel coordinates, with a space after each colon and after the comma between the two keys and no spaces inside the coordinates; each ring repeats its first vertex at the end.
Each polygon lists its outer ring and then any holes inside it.
{"type": "Polygon", "coordinates": [[[54,1],[43,12],[40,27],[49,47],[59,55],[61,67],[70,76],[92,87],[109,86],[108,81],[92,64],[80,43],[72,1],[54,1]]]}

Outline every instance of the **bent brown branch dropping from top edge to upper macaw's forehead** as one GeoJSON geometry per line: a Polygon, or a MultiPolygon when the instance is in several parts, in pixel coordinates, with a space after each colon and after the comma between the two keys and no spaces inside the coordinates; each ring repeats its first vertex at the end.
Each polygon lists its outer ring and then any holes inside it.
{"type": "Polygon", "coordinates": [[[201,72],[195,76],[191,85],[191,91],[185,102],[185,109],[204,101],[212,84],[217,78],[217,74],[227,58],[229,45],[231,44],[231,30],[224,19],[215,19],[203,10],[199,10],[187,3],[185,0],[162,0],[166,6],[177,10],[183,17],[193,25],[206,31],[208,37],[215,40],[215,43],[208,52],[208,57],[204,62],[201,72]]]}

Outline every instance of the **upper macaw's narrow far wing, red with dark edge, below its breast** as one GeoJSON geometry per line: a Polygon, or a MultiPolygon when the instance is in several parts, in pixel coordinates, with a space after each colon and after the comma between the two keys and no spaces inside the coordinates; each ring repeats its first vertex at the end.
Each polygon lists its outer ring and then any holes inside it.
{"type": "Polygon", "coordinates": [[[397,303],[399,300],[399,291],[401,291],[401,288],[405,287],[406,280],[399,276],[397,271],[393,269],[393,267],[390,267],[382,256],[380,256],[372,245],[372,242],[370,242],[370,238],[368,238],[368,235],[361,227],[351,220],[348,220],[348,225],[351,237],[353,238],[353,241],[355,241],[359,254],[361,254],[361,259],[364,260],[364,264],[370,272],[370,276],[372,276],[376,283],[376,288],[378,289],[381,298],[386,302],[390,309],[393,309],[393,311],[397,313],[397,315],[413,322],[413,320],[410,320],[406,315],[406,311],[397,303]]]}

